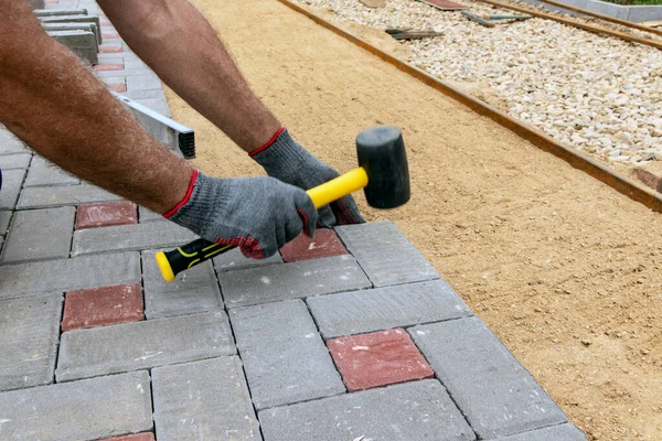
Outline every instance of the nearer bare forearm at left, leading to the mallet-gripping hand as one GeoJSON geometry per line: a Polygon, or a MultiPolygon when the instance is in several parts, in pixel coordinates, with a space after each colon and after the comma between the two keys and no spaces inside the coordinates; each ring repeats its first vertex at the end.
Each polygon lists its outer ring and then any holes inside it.
{"type": "Polygon", "coordinates": [[[73,54],[28,19],[29,9],[15,11],[23,6],[0,4],[22,20],[13,30],[0,29],[0,122],[64,170],[156,212],[170,209],[185,194],[191,166],[148,136],[73,54]]]}

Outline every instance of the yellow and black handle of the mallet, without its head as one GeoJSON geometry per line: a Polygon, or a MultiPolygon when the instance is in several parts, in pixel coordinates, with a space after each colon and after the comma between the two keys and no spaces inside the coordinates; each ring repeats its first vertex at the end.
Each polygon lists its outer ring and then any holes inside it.
{"type": "MultiPolygon", "coordinates": [[[[314,206],[320,208],[366,185],[367,173],[365,169],[360,166],[322,185],[310,189],[306,193],[308,193],[314,206]]],[[[232,248],[234,248],[232,245],[218,245],[205,239],[197,239],[171,251],[159,251],[156,258],[163,279],[171,282],[183,270],[202,263],[232,248]]]]}

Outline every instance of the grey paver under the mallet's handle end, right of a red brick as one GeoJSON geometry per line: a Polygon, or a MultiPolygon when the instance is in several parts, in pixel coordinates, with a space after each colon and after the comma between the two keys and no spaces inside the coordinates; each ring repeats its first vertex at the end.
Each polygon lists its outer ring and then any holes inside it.
{"type": "Polygon", "coordinates": [[[145,316],[147,319],[223,310],[218,280],[205,261],[167,282],[154,260],[156,251],[142,251],[145,316]]]}

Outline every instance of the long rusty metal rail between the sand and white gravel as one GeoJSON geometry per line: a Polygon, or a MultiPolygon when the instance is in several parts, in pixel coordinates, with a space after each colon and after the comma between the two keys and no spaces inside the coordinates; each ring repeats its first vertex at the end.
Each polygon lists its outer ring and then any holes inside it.
{"type": "Polygon", "coordinates": [[[552,153],[555,157],[566,161],[573,168],[584,171],[585,173],[591,175],[598,181],[605,183],[606,185],[609,185],[619,193],[622,193],[626,196],[630,197],[632,201],[639,202],[654,212],[662,213],[662,195],[655,193],[654,191],[644,187],[643,185],[640,185],[638,182],[627,176],[623,176],[612,170],[609,170],[606,165],[599,163],[598,161],[577,152],[572,147],[564,146],[557,142],[556,140],[543,133],[542,131],[511,117],[510,115],[496,109],[495,107],[492,107],[489,104],[483,103],[480,99],[474,98],[471,95],[468,95],[461,92],[460,89],[455,88],[448,83],[445,83],[444,80],[438,79],[427,74],[426,72],[414,67],[410,64],[403,62],[402,60],[393,55],[385,53],[384,51],[373,46],[364,40],[361,40],[357,36],[352,35],[351,33],[335,26],[334,24],[331,24],[321,17],[316,15],[314,13],[290,2],[289,0],[278,1],[285,4],[286,7],[306,15],[310,20],[330,30],[331,32],[349,40],[359,47],[370,52],[371,54],[393,65],[399,71],[413,76],[414,78],[420,80],[427,86],[463,104],[477,114],[492,119],[494,122],[511,130],[512,132],[527,140],[538,149],[552,153]]]}

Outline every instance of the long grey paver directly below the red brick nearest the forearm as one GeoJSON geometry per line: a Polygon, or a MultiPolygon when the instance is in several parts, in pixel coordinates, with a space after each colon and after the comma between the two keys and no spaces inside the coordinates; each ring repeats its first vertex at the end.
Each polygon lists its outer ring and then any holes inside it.
{"type": "Polygon", "coordinates": [[[166,219],[159,223],[78,229],[74,233],[72,256],[175,247],[196,238],[190,229],[166,219]]]}

